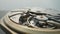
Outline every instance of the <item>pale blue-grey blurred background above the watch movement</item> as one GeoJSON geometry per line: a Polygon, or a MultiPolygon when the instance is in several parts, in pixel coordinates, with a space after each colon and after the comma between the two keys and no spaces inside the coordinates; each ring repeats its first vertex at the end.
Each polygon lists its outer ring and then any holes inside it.
{"type": "Polygon", "coordinates": [[[23,7],[60,9],[60,0],[0,0],[0,10],[12,10],[23,7]]]}

